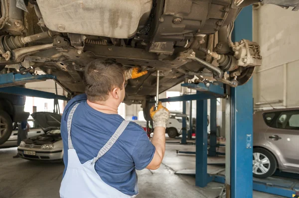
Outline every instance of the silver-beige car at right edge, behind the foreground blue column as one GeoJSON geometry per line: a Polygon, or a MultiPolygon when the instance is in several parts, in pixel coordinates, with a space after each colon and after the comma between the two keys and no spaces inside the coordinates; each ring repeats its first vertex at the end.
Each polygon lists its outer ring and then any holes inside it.
{"type": "Polygon", "coordinates": [[[277,169],[298,173],[299,108],[257,111],[253,123],[253,176],[267,178],[277,169]]]}

